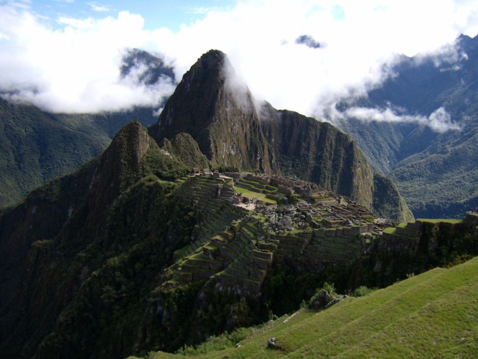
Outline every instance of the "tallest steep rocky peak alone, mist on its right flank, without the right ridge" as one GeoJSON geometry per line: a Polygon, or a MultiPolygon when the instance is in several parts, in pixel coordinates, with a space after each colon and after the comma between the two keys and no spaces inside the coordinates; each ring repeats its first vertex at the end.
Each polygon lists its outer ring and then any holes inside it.
{"type": "Polygon", "coordinates": [[[210,50],[186,72],[156,125],[158,143],[189,133],[213,167],[271,173],[277,169],[252,95],[226,54],[210,50]]]}

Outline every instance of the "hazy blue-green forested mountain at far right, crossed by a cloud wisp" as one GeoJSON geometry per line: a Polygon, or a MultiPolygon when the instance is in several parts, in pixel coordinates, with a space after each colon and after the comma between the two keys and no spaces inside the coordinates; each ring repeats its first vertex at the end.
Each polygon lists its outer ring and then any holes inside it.
{"type": "Polygon", "coordinates": [[[401,61],[392,76],[352,107],[421,116],[444,114],[459,129],[437,131],[425,124],[360,121],[338,125],[350,134],[373,168],[388,175],[416,217],[460,217],[478,205],[478,36],[461,35],[458,57],[419,56],[401,61]],[[438,112],[436,112],[438,110],[438,112]]]}

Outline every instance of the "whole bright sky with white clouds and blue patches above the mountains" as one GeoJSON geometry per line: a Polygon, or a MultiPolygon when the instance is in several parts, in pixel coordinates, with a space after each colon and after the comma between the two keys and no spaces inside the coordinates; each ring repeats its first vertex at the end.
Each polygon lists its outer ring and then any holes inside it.
{"type": "MultiPolygon", "coordinates": [[[[461,33],[478,33],[476,0],[0,0],[0,91],[53,112],[156,106],[175,83],[121,78],[127,48],[159,54],[176,81],[216,48],[258,100],[320,118],[393,76],[400,54],[463,61],[461,33]]],[[[400,120],[387,110],[376,120],[400,120]]]]}

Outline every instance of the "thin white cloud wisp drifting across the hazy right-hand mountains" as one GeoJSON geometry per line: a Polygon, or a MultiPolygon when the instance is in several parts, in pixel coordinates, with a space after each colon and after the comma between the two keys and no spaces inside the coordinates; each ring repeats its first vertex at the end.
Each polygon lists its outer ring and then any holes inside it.
{"type": "MultiPolygon", "coordinates": [[[[345,111],[349,117],[364,122],[412,122],[428,126],[431,129],[443,133],[449,130],[460,130],[460,126],[452,122],[450,114],[444,107],[433,111],[430,116],[421,115],[397,115],[390,108],[374,109],[364,107],[353,107],[345,111]]],[[[343,116],[343,114],[341,114],[343,116]]]]}

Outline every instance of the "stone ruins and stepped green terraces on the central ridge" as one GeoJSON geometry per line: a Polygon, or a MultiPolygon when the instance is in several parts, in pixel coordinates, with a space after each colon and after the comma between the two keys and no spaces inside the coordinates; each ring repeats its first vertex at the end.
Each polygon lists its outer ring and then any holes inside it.
{"type": "Polygon", "coordinates": [[[389,225],[378,218],[373,223],[365,207],[318,187],[313,190],[312,183],[250,174],[233,183],[224,176],[193,176],[178,188],[200,213],[200,221],[192,243],[176,251],[180,260],[169,268],[166,286],[210,280],[255,294],[273,263],[293,259],[315,272],[331,263],[347,263],[389,225]],[[277,206],[273,198],[279,188],[289,193],[289,205],[277,206]],[[247,204],[241,206],[236,190],[247,204]]]}

